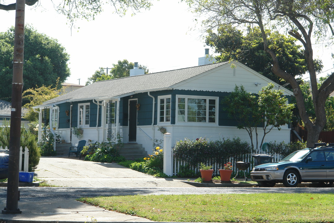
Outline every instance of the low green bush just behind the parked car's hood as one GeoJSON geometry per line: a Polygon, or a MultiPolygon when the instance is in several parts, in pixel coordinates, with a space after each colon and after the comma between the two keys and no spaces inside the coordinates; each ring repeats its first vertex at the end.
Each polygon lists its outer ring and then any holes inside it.
{"type": "Polygon", "coordinates": [[[306,142],[301,142],[301,141],[295,141],[289,143],[285,143],[284,141],[277,143],[276,141],[274,141],[274,142],[269,142],[268,144],[269,144],[269,149],[268,149],[269,153],[276,152],[278,154],[281,154],[283,157],[289,155],[290,153],[296,150],[306,148],[306,142]]]}

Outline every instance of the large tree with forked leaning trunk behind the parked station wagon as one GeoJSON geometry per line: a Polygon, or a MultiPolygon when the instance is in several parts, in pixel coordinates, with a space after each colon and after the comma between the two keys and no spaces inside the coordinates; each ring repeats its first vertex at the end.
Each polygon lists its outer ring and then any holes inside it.
{"type": "Polygon", "coordinates": [[[272,72],[287,81],[292,88],[307,134],[307,146],[313,146],[326,125],[325,104],[334,91],[334,73],[318,88],[317,69],[313,58],[312,44],[324,40],[332,42],[334,38],[334,5],[332,0],[184,0],[195,13],[208,15],[203,21],[206,30],[215,30],[219,26],[258,26],[261,30],[264,50],[272,59],[272,72]],[[307,72],[311,82],[312,102],[315,119],[311,120],[305,108],[305,98],[298,80],[279,62],[280,55],[268,42],[266,30],[286,30],[299,40],[304,47],[307,72]]]}

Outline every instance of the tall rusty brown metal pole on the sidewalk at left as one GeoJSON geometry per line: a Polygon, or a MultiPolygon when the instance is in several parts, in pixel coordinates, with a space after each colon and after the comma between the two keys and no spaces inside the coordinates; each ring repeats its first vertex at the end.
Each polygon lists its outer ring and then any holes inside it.
{"type": "Polygon", "coordinates": [[[19,161],[23,88],[24,8],[25,0],[16,0],[12,108],[10,115],[7,203],[2,214],[20,214],[19,161]]]}

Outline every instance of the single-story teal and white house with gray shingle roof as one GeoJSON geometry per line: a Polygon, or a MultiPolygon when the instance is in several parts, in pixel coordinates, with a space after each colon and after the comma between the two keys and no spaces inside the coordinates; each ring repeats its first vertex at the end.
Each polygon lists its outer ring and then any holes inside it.
{"type": "MultiPolygon", "coordinates": [[[[272,82],[239,62],[208,64],[172,71],[144,74],[136,66],[130,77],[99,81],[44,102],[35,108],[50,108],[50,123],[56,123],[66,142],[78,139],[71,127],[83,129],[83,139],[115,140],[117,132],[124,143],[138,143],[152,153],[153,140],[163,139],[164,127],[172,144],[184,138],[210,140],[239,137],[250,141],[245,130],[237,129],[227,117],[223,97],[243,85],[258,93],[272,82]],[[141,75],[133,75],[138,74],[141,75]],[[57,121],[55,121],[57,119],[57,121]]],[[[293,93],[275,84],[284,95],[293,93]]],[[[40,122],[42,115],[40,112],[40,122]]],[[[41,126],[41,125],[39,125],[41,126]]],[[[261,133],[259,133],[260,137],[261,133]]],[[[290,141],[290,128],[273,129],[266,141],[290,141]]]]}

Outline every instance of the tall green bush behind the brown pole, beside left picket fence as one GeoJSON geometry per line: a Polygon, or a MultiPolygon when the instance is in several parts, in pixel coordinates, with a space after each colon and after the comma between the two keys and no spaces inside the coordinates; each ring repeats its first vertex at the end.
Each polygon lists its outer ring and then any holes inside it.
{"type": "MultiPolygon", "coordinates": [[[[4,126],[0,126],[0,145],[3,148],[9,145],[9,134],[10,127],[6,123],[4,126]]],[[[21,128],[20,146],[22,146],[23,151],[25,147],[29,149],[28,171],[31,172],[38,165],[41,156],[37,147],[36,136],[25,128],[21,128]]],[[[22,163],[23,161],[24,157],[22,156],[22,163]]]]}

